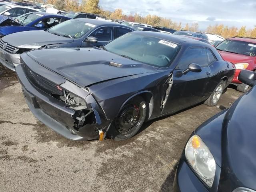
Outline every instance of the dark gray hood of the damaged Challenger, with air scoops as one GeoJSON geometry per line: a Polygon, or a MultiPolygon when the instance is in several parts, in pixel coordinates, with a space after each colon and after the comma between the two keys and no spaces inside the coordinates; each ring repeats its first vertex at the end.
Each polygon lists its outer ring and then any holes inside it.
{"type": "Polygon", "coordinates": [[[84,87],[158,70],[98,48],[52,48],[26,54],[42,66],[84,87]]]}

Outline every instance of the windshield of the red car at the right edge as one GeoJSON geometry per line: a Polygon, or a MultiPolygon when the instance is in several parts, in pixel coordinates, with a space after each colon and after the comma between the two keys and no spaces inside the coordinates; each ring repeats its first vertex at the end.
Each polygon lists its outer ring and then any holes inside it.
{"type": "Polygon", "coordinates": [[[216,47],[217,50],[232,52],[247,56],[255,56],[256,54],[256,44],[245,42],[245,41],[237,41],[237,40],[224,40],[216,47]]]}

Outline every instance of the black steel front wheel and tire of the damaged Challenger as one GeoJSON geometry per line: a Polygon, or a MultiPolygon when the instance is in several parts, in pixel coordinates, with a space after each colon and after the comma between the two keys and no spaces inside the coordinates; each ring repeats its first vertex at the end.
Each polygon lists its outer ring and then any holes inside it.
{"type": "Polygon", "coordinates": [[[126,140],[140,130],[147,112],[147,104],[140,96],[128,101],[112,121],[108,136],[116,141],[126,140]]]}

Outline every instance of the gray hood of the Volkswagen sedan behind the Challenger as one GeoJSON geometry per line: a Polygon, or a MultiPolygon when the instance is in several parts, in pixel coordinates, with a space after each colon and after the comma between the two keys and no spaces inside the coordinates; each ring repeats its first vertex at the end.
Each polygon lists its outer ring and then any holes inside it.
{"type": "Polygon", "coordinates": [[[24,31],[6,35],[4,42],[18,48],[40,48],[50,44],[71,43],[74,39],[51,34],[44,30],[24,31]]]}

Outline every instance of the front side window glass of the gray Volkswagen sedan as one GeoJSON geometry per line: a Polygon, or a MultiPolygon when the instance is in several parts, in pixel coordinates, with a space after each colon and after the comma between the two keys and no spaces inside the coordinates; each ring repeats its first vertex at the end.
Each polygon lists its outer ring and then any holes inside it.
{"type": "Polygon", "coordinates": [[[101,27],[92,32],[89,36],[96,37],[98,41],[110,41],[113,37],[113,27],[101,27]]]}

